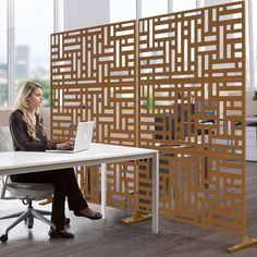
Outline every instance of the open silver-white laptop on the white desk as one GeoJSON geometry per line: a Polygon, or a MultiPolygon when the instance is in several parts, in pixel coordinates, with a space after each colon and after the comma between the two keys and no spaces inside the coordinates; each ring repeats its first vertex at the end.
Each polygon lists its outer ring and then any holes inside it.
{"type": "Polygon", "coordinates": [[[78,122],[76,128],[76,136],[73,149],[66,150],[46,150],[47,152],[65,152],[65,154],[73,154],[77,151],[87,150],[91,146],[93,133],[94,133],[94,121],[89,122],[78,122]]]}

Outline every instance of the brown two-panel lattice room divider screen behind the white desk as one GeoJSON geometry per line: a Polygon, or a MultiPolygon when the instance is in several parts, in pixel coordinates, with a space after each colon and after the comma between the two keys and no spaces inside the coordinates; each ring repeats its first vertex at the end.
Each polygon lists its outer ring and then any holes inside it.
{"type": "MultiPolygon", "coordinates": [[[[51,35],[51,137],[95,120],[94,139],[160,152],[164,218],[246,228],[244,2],[51,35]]],[[[144,160],[108,167],[108,205],[151,211],[144,160]]],[[[78,168],[99,203],[97,168],[78,168]]]]}

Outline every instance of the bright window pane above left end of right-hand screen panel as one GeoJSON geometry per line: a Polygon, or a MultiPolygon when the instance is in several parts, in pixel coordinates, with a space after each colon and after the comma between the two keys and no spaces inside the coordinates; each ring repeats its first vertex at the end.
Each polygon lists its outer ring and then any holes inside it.
{"type": "Polygon", "coordinates": [[[142,17],[168,13],[168,0],[142,0],[142,17]]]}

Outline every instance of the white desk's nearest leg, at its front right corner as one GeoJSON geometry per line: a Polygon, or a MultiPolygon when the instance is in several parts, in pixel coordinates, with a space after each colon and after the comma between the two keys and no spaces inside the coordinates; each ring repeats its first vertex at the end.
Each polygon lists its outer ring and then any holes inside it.
{"type": "Polygon", "coordinates": [[[152,220],[151,232],[158,233],[159,230],[159,155],[155,154],[150,160],[152,172],[152,220]]]}

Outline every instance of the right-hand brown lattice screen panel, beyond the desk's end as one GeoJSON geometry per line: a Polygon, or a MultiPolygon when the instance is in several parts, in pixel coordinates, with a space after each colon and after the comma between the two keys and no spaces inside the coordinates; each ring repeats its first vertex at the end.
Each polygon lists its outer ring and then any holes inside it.
{"type": "Polygon", "coordinates": [[[244,3],[139,20],[139,146],[160,152],[160,211],[245,231],[244,3]]]}

